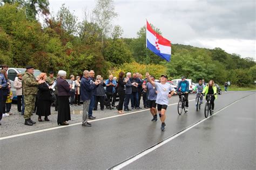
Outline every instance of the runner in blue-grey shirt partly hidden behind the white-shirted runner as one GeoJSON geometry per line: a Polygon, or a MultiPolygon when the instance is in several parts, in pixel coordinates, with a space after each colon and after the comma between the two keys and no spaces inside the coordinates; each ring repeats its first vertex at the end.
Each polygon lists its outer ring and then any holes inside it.
{"type": "MultiPolygon", "coordinates": [[[[150,76],[151,80],[154,81],[154,76],[150,76]]],[[[142,87],[145,92],[149,92],[149,96],[147,97],[147,105],[150,108],[150,112],[153,115],[153,119],[151,121],[157,121],[157,90],[151,83],[147,82],[147,84],[142,84],[142,87]]]]}

